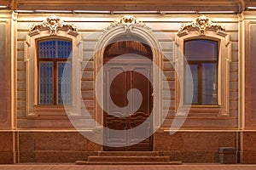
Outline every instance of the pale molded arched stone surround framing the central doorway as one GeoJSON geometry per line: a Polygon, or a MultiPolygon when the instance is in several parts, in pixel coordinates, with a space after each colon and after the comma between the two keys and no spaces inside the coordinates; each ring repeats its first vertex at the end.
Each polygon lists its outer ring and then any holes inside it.
{"type": "MultiPolygon", "coordinates": [[[[104,52],[107,46],[113,41],[113,39],[123,36],[123,35],[131,35],[135,37],[140,37],[144,40],[143,43],[148,44],[148,46],[152,50],[153,54],[153,62],[154,65],[162,68],[162,50],[160,46],[160,42],[154,37],[154,32],[146,26],[143,22],[138,21],[134,16],[125,15],[120,20],[113,21],[113,23],[108,26],[108,28],[104,31],[102,37],[96,43],[96,51],[94,53],[94,61],[95,61],[95,76],[94,80],[97,79],[97,75],[103,66],[103,57],[104,52]]],[[[160,91],[160,73],[157,72],[157,69],[153,68],[153,86],[154,89],[160,91]]],[[[103,103],[103,77],[98,79],[98,94],[99,99],[103,103]]],[[[96,89],[96,88],[95,88],[96,89]]],[[[161,108],[161,93],[155,93],[154,95],[154,128],[160,127],[160,108],[161,108]]],[[[98,102],[95,102],[95,120],[100,125],[96,125],[98,127],[103,126],[103,111],[98,102]]]]}

